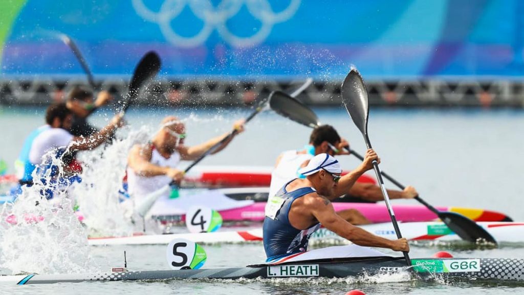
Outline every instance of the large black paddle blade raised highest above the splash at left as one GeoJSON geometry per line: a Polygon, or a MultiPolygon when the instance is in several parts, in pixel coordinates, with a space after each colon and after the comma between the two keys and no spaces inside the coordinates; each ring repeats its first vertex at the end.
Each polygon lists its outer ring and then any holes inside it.
{"type": "Polygon", "coordinates": [[[149,51],[140,59],[133,72],[133,77],[129,83],[128,101],[124,106],[126,111],[130,104],[138,97],[140,89],[147,86],[160,71],[160,57],[155,51],[149,51]]]}

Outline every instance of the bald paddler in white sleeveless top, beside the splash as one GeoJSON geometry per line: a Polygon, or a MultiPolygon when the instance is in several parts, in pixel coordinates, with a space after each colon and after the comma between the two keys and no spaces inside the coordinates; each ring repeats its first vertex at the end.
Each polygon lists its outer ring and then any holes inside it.
{"type": "MultiPolygon", "coordinates": [[[[238,130],[236,134],[243,132],[244,119],[236,121],[233,128],[238,130]]],[[[173,180],[180,182],[184,176],[184,172],[177,169],[181,160],[198,159],[228,135],[229,132],[202,144],[185,146],[184,124],[177,117],[164,118],[160,130],[150,142],[136,144],[129,152],[127,158],[129,195],[134,196],[137,201],[137,198],[143,198],[173,180]]],[[[213,154],[223,150],[231,140],[226,140],[213,154]]]]}

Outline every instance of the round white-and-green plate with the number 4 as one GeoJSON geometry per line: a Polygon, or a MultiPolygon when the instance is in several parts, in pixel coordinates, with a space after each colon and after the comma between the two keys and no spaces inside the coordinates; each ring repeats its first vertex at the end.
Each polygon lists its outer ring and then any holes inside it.
{"type": "Polygon", "coordinates": [[[222,216],[210,208],[191,207],[185,214],[185,226],[191,233],[212,233],[222,226],[222,216]]]}

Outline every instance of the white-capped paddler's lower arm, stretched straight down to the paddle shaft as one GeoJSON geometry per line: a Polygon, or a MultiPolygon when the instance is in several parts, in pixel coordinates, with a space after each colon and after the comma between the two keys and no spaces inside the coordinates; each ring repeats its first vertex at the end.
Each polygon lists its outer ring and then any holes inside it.
{"type": "Polygon", "coordinates": [[[405,238],[389,240],[376,236],[368,231],[356,227],[335,213],[331,202],[319,195],[304,196],[304,205],[310,210],[319,222],[335,234],[352,241],[359,246],[388,248],[394,251],[409,251],[408,241],[405,238]]]}

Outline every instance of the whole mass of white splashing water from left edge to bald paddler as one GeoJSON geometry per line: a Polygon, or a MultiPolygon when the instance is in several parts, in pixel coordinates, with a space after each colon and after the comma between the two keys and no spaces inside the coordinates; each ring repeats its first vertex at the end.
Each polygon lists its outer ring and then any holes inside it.
{"type": "MultiPolygon", "coordinates": [[[[37,175],[31,187],[24,186],[14,204],[0,208],[0,269],[12,273],[92,272],[88,234],[128,235],[133,225],[124,216],[118,190],[122,187],[127,154],[133,144],[144,143],[151,132],[145,127],[115,139],[105,149],[79,153],[84,163],[81,183],[51,184],[51,169],[37,175]],[[47,200],[41,192],[50,189],[47,200]],[[73,212],[80,206],[83,225],[73,212]]],[[[48,153],[51,165],[64,175],[60,160],[48,153]]],[[[54,176],[57,178],[57,176],[54,176]]]]}

